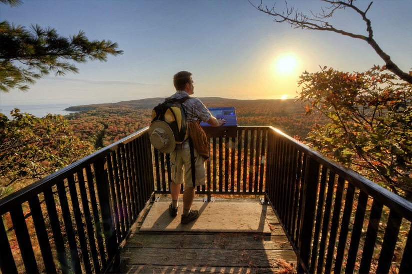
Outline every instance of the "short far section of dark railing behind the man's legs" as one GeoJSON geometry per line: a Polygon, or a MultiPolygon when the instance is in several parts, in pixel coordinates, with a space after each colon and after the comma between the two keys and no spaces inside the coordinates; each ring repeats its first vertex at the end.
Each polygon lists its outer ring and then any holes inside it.
{"type": "MultiPolygon", "coordinates": [[[[264,195],[268,127],[239,126],[237,137],[209,138],[210,160],[205,162],[206,185],[196,194],[264,195]]],[[[155,151],[155,193],[169,193],[169,155],[155,151]]],[[[183,186],[182,186],[183,191],[183,186]]]]}

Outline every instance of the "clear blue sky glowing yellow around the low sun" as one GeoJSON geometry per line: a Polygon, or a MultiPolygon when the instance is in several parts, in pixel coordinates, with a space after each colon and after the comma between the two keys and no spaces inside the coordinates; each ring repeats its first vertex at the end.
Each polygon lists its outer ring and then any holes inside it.
{"type": "MultiPolygon", "coordinates": [[[[304,71],[320,66],[365,71],[383,60],[364,40],[329,31],[302,30],[258,11],[248,0],[22,0],[0,3],[0,20],[27,28],[50,26],[69,36],[83,30],[90,40],[117,42],[122,55],[107,62],[76,64],[79,73],[37,80],[27,92],[0,94],[1,105],[111,103],[175,92],[173,75],[193,73],[194,97],[294,98],[304,71]]],[[[260,4],[260,0],[250,0],[260,4]]],[[[284,10],[284,0],[265,0],[284,10]]],[[[369,0],[355,2],[365,9],[369,0]]],[[[319,0],[288,0],[305,12],[319,0]]],[[[404,71],[412,67],[411,0],[374,0],[368,17],[379,45],[404,71]]],[[[359,14],[346,9],[336,28],[366,35],[359,14]]]]}

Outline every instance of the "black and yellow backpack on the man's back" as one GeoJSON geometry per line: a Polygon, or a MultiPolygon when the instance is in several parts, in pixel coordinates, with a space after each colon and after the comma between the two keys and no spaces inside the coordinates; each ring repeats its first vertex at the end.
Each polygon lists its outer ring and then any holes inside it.
{"type": "Polygon", "coordinates": [[[189,98],[189,96],[185,96],[180,99],[166,99],[163,103],[154,107],[152,111],[151,123],[160,120],[168,124],[177,145],[180,145],[189,137],[186,114],[182,106],[182,103],[189,98]]]}

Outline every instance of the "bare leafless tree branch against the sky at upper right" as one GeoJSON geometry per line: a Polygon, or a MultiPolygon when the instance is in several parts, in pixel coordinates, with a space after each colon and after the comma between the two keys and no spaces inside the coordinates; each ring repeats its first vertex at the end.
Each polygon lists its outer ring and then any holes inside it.
{"type": "Polygon", "coordinates": [[[291,24],[292,26],[294,26],[295,28],[301,28],[301,29],[333,31],[333,32],[336,32],[336,33],[339,33],[345,36],[352,37],[352,38],[365,40],[370,46],[372,46],[375,52],[385,61],[385,64],[388,70],[398,75],[404,81],[407,81],[412,84],[412,75],[400,69],[398,65],[392,61],[391,56],[389,56],[380,47],[377,41],[374,39],[374,32],[372,29],[371,20],[366,16],[367,12],[369,11],[369,9],[371,8],[373,4],[373,1],[369,3],[365,11],[362,11],[360,8],[354,5],[353,0],[344,0],[344,1],[322,0],[322,1],[328,3],[330,6],[325,7],[325,8],[322,7],[321,13],[314,13],[311,11],[312,16],[309,16],[309,15],[306,15],[298,11],[297,9],[295,10],[293,6],[289,8],[287,1],[285,1],[286,9],[283,10],[282,12],[278,12],[275,10],[276,3],[272,6],[272,8],[269,8],[267,5],[266,6],[263,5],[263,0],[261,0],[260,5],[257,5],[257,6],[253,4],[251,0],[249,0],[251,5],[253,5],[259,11],[262,11],[268,15],[274,16],[275,22],[278,22],[278,23],[287,22],[291,24]],[[328,21],[328,18],[331,18],[333,13],[336,10],[345,9],[345,8],[351,8],[361,15],[362,20],[365,21],[366,23],[366,30],[368,32],[368,36],[365,36],[362,34],[356,34],[356,33],[349,32],[343,29],[335,28],[328,21]]]}

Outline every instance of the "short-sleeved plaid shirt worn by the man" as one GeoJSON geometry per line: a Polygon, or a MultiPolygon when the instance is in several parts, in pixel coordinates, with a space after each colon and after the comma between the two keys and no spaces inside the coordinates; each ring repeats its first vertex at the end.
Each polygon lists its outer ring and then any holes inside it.
{"type": "MultiPolygon", "coordinates": [[[[170,96],[170,98],[180,99],[186,96],[189,96],[186,91],[178,90],[175,94],[170,96]]],[[[187,99],[185,102],[183,102],[183,107],[185,109],[186,119],[189,123],[197,121],[199,119],[203,122],[206,122],[210,118],[212,118],[210,111],[206,108],[202,101],[197,98],[190,97],[190,99],[187,99]]]]}

